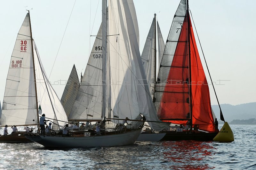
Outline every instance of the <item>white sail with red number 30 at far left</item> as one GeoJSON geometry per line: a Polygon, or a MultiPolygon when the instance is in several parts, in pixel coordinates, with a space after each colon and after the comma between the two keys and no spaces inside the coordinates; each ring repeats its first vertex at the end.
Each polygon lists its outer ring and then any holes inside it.
{"type": "Polygon", "coordinates": [[[0,125],[36,124],[36,88],[29,14],[18,33],[6,79],[0,125]]]}

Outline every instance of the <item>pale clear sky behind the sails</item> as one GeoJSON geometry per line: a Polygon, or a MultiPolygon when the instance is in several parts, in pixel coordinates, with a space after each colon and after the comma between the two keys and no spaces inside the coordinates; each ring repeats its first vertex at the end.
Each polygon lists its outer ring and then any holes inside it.
{"type": "MultiPolygon", "coordinates": [[[[179,3],[180,0],[134,0],[140,31],[140,53],[154,13],[166,41],[179,3]]],[[[254,0],[189,1],[220,104],[256,102],[255,6],[254,0]]],[[[97,34],[101,23],[101,0],[8,0],[2,1],[1,7],[1,103],[12,50],[26,9],[30,10],[32,37],[44,69],[61,98],[73,64],[78,74],[84,74],[94,42],[91,35],[97,34]]],[[[200,51],[198,43],[197,47],[200,51]]],[[[203,55],[201,60],[207,81],[211,84],[203,55]]],[[[211,103],[217,104],[211,85],[209,89],[211,103]]]]}

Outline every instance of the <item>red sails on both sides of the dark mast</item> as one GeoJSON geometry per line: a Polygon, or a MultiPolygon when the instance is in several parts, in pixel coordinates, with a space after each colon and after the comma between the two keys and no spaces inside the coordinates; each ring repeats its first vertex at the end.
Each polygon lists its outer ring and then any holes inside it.
{"type": "MultiPolygon", "coordinates": [[[[160,119],[190,118],[188,94],[189,60],[187,33],[187,17],[185,17],[160,107],[157,112],[160,119]]],[[[209,132],[215,131],[211,110],[209,87],[197,50],[192,25],[190,26],[190,58],[193,125],[198,124],[200,130],[209,132]]],[[[185,125],[187,120],[168,122],[185,125]]]]}

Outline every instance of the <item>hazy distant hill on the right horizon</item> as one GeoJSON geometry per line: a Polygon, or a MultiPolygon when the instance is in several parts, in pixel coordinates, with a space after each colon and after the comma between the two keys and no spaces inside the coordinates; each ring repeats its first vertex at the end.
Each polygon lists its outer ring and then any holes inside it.
{"type": "MultiPolygon", "coordinates": [[[[224,119],[230,123],[233,120],[246,120],[256,118],[256,102],[238,105],[221,104],[220,105],[224,119]]],[[[212,110],[216,117],[220,118],[220,108],[218,105],[212,105],[212,110]]]]}

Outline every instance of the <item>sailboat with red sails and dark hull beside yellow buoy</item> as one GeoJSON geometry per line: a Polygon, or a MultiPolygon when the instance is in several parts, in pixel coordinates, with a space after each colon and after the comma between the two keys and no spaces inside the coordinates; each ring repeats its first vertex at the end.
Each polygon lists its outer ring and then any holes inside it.
{"type": "MultiPolygon", "coordinates": [[[[165,131],[162,140],[208,141],[219,132],[214,126],[209,87],[196,46],[188,0],[180,1],[174,15],[154,98],[161,121],[190,126],[187,131],[181,128],[165,131]]],[[[221,111],[220,118],[224,121],[221,111]]]]}

